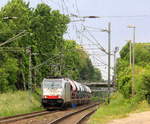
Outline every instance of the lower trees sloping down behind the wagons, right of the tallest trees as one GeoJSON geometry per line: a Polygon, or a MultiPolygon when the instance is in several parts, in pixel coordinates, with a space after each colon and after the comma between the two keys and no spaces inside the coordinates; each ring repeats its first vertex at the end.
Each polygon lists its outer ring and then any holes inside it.
{"type": "Polygon", "coordinates": [[[101,73],[94,68],[87,53],[73,40],[66,40],[63,74],[80,81],[100,81],[101,73]]]}

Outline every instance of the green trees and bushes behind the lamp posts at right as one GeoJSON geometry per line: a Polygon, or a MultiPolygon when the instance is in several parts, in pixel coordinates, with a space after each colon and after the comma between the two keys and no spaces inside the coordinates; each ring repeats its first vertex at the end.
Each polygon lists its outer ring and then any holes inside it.
{"type": "Polygon", "coordinates": [[[134,83],[132,83],[132,66],[130,67],[129,63],[129,48],[130,44],[127,43],[120,51],[117,63],[117,88],[125,98],[150,100],[150,43],[135,44],[134,83]]]}

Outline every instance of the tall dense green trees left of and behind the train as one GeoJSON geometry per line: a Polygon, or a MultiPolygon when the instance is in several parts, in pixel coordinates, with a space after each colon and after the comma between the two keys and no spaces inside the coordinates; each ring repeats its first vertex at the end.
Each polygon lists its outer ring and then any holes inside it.
{"type": "Polygon", "coordinates": [[[34,86],[49,76],[101,80],[83,48],[63,38],[69,22],[46,4],[30,8],[23,0],[11,0],[1,8],[0,92],[29,88],[30,72],[34,86]]]}

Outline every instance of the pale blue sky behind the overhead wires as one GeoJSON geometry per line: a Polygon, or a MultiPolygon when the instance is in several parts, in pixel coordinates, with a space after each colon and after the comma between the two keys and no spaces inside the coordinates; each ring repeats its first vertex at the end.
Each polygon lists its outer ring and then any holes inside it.
{"type": "MultiPolygon", "coordinates": [[[[46,3],[52,9],[58,9],[61,13],[79,16],[100,16],[97,19],[71,18],[81,20],[71,22],[68,31],[64,35],[66,39],[76,40],[83,45],[90,55],[93,64],[100,68],[102,76],[107,80],[107,55],[98,47],[97,42],[107,51],[108,34],[101,32],[111,22],[111,51],[117,46],[121,49],[127,40],[132,40],[133,30],[127,28],[132,24],[136,26],[136,42],[150,43],[150,0],[25,0],[31,7],[38,3],[46,3]],[[93,38],[94,37],[94,38],[93,38]]],[[[0,7],[8,0],[0,0],[0,7]]],[[[119,57],[119,53],[117,54],[119,57]]],[[[111,66],[113,67],[113,56],[111,66]]],[[[113,75],[113,70],[111,70],[113,75]]]]}

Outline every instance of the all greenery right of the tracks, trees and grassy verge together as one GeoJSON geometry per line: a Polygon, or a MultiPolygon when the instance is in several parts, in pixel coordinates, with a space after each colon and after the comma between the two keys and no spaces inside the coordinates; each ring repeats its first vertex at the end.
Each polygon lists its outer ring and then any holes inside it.
{"type": "Polygon", "coordinates": [[[120,51],[117,62],[117,93],[112,94],[110,104],[100,106],[89,124],[105,124],[132,112],[150,111],[150,43],[135,44],[134,84],[129,58],[128,43],[120,51]]]}

